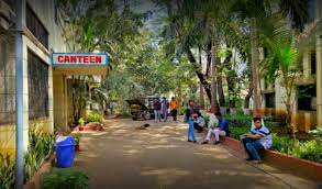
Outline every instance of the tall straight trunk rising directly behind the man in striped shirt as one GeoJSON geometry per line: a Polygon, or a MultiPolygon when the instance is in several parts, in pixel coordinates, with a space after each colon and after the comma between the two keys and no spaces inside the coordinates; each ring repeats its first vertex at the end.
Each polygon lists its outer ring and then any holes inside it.
{"type": "Polygon", "coordinates": [[[252,33],[251,33],[251,46],[252,46],[252,85],[254,90],[254,108],[253,115],[260,115],[260,88],[258,78],[258,63],[259,63],[259,52],[258,52],[258,33],[257,33],[256,19],[252,20],[252,33]]]}

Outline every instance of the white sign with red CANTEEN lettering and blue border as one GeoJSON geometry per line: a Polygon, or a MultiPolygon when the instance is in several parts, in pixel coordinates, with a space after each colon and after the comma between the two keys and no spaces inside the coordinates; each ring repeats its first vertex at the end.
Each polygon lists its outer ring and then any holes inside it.
{"type": "Polygon", "coordinates": [[[53,53],[52,66],[107,66],[106,53],[53,53]]]}

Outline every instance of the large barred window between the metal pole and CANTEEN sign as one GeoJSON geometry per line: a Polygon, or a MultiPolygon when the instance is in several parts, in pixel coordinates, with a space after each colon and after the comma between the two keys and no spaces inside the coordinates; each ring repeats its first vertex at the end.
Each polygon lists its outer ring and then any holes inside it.
{"type": "Polygon", "coordinates": [[[29,119],[48,118],[48,65],[27,51],[29,119]]]}

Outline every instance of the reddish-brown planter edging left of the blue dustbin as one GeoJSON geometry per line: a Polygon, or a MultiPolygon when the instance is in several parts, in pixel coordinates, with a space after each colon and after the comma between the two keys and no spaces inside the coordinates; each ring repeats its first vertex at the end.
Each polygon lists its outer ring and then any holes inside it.
{"type": "Polygon", "coordinates": [[[48,173],[53,168],[55,162],[55,155],[42,165],[42,167],[35,173],[35,175],[23,186],[24,189],[40,189],[42,175],[48,173]]]}

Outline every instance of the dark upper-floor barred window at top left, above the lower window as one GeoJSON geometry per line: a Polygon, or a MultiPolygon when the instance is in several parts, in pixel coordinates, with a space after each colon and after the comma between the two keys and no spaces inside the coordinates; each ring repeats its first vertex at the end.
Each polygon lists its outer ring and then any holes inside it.
{"type": "Polygon", "coordinates": [[[29,3],[26,3],[25,15],[26,27],[46,48],[48,48],[48,32],[29,3]]]}

